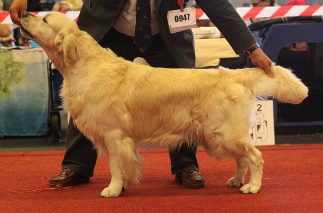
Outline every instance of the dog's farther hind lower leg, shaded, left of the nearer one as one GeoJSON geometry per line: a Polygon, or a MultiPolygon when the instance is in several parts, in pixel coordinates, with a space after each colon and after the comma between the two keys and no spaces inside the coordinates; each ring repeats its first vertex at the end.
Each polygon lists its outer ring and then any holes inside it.
{"type": "Polygon", "coordinates": [[[241,160],[240,158],[235,158],[237,162],[237,170],[234,174],[234,177],[230,178],[227,182],[227,186],[229,187],[241,187],[244,184],[244,178],[248,171],[248,165],[246,162],[241,160]]]}

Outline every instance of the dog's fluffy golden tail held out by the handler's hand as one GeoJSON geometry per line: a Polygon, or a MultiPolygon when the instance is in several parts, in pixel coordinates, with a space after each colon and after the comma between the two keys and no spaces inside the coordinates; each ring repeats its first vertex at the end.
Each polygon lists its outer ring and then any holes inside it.
{"type": "Polygon", "coordinates": [[[274,96],[291,104],[299,104],[307,97],[307,87],[291,70],[274,65],[271,68],[274,78],[267,77],[261,68],[251,68],[238,70],[237,81],[258,97],[274,96]]]}

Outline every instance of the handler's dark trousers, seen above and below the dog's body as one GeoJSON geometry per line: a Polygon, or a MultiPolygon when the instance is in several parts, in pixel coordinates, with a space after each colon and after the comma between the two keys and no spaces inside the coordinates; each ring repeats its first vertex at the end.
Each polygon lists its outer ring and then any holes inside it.
{"type": "MultiPolygon", "coordinates": [[[[152,44],[144,53],[140,52],[133,44],[133,37],[118,33],[114,29],[110,30],[100,41],[102,47],[109,47],[118,56],[133,61],[136,57],[144,58],[150,66],[178,68],[177,63],[171,57],[160,35],[152,36],[152,44]]],[[[170,151],[172,174],[179,173],[187,169],[198,169],[195,157],[196,146],[182,146],[180,149],[170,151]]],[[[70,120],[67,129],[66,154],[62,167],[70,168],[80,175],[93,176],[97,153],[91,142],[80,133],[80,131],[70,120]]]]}

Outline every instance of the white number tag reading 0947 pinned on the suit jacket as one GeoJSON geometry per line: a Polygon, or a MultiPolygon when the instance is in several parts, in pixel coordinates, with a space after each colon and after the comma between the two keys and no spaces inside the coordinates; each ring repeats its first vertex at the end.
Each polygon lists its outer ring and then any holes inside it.
{"type": "Polygon", "coordinates": [[[171,33],[177,33],[197,27],[194,8],[184,8],[183,11],[169,11],[167,14],[167,20],[171,33]]]}

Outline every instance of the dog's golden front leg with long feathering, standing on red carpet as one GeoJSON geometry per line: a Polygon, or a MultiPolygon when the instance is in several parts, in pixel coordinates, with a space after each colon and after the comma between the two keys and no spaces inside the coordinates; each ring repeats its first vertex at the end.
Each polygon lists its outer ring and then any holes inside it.
{"type": "Polygon", "coordinates": [[[117,197],[127,183],[138,182],[140,174],[139,154],[132,138],[111,133],[106,147],[109,151],[111,182],[101,192],[103,197],[117,197]]]}

